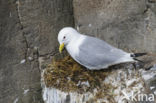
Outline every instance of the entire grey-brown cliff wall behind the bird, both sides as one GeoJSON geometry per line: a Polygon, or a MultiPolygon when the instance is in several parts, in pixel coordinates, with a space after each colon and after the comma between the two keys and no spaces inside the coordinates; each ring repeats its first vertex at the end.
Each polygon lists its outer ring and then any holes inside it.
{"type": "Polygon", "coordinates": [[[0,103],[43,102],[41,66],[74,22],[116,47],[156,51],[155,0],[0,0],[0,103]]]}

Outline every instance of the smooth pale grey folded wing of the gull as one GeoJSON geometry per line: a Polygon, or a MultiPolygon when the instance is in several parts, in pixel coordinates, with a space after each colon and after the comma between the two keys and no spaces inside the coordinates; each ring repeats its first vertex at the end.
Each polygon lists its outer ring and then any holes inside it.
{"type": "Polygon", "coordinates": [[[126,54],[103,40],[88,36],[80,45],[79,50],[76,60],[90,68],[107,67],[116,63],[126,54]]]}

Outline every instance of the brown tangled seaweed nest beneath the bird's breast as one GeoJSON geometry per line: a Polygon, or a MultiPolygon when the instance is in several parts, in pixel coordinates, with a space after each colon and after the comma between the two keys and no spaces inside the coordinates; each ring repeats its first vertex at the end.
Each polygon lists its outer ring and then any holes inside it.
{"type": "Polygon", "coordinates": [[[102,87],[102,90],[107,93],[107,90],[112,86],[104,84],[103,81],[110,73],[112,72],[105,70],[88,70],[70,56],[65,56],[59,60],[53,59],[52,63],[47,65],[43,77],[47,87],[54,87],[63,91],[83,93],[102,87]]]}

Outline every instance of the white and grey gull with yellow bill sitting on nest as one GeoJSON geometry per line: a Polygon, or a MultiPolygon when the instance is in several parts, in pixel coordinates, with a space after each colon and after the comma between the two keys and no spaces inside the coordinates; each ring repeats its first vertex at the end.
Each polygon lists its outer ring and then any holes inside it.
{"type": "Polygon", "coordinates": [[[124,62],[136,62],[134,54],[115,48],[98,38],[80,34],[72,27],[60,30],[58,41],[60,52],[65,46],[75,61],[90,70],[106,69],[124,62]]]}

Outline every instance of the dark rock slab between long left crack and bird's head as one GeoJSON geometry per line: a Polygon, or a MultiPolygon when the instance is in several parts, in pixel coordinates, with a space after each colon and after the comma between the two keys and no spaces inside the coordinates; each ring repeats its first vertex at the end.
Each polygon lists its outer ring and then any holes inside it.
{"type": "Polygon", "coordinates": [[[55,52],[58,31],[72,26],[72,1],[19,0],[19,18],[30,49],[37,47],[39,55],[55,52]]]}

